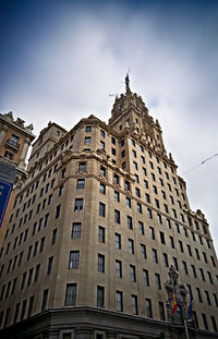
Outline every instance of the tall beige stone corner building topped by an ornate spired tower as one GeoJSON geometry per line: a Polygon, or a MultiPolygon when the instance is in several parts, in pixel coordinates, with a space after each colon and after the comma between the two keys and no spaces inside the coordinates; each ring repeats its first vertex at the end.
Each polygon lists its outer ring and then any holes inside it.
{"type": "Polygon", "coordinates": [[[207,220],[125,86],[108,124],[50,122],[33,145],[0,251],[1,338],[185,338],[190,295],[190,338],[218,338],[207,220]]]}

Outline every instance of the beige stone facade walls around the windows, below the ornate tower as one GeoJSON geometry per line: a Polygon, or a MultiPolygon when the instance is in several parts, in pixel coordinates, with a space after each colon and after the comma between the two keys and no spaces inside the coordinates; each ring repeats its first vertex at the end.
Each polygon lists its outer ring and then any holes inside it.
{"type": "MultiPolygon", "coordinates": [[[[132,123],[135,121],[135,117],[134,113],[131,116],[132,123]]],[[[123,114],[122,120],[125,121],[125,118],[126,117],[123,114]]],[[[138,121],[138,124],[142,129],[143,122],[138,121]]],[[[13,280],[17,278],[17,282],[13,295],[11,295],[10,288],[10,293],[5,299],[4,291],[4,296],[0,305],[0,314],[4,311],[5,316],[5,310],[10,307],[8,324],[12,324],[16,304],[21,303],[17,317],[17,319],[20,319],[22,303],[24,300],[27,300],[24,315],[24,317],[27,317],[29,299],[33,295],[35,295],[33,314],[39,313],[41,310],[43,293],[46,289],[49,289],[47,307],[63,306],[66,283],[76,283],[76,305],[96,307],[97,286],[101,286],[105,287],[106,308],[116,311],[116,291],[118,290],[123,293],[124,313],[133,313],[131,294],[134,294],[137,296],[138,315],[146,316],[145,299],[148,298],[152,300],[153,317],[155,319],[160,319],[158,302],[165,303],[167,300],[165,282],[168,280],[169,267],[165,266],[162,256],[162,254],[166,253],[169,266],[174,265],[173,258],[178,261],[180,282],[190,284],[192,288],[194,298],[193,310],[197,313],[199,327],[204,328],[202,320],[202,313],[204,313],[207,316],[208,328],[213,330],[210,316],[217,318],[218,310],[214,300],[214,294],[218,295],[218,264],[206,221],[203,216],[192,214],[193,226],[189,225],[187,211],[190,214],[191,211],[189,210],[185,186],[178,178],[177,166],[173,160],[167,157],[165,152],[158,154],[157,150],[154,150],[152,146],[148,145],[148,142],[144,141],[143,137],[140,138],[131,128],[121,131],[120,134],[114,125],[113,128],[114,130],[110,125],[106,126],[94,117],[87,120],[83,119],[81,124],[66,133],[53,148],[48,138],[48,145],[45,145],[47,154],[44,154],[40,158],[37,167],[33,169],[34,175],[29,177],[26,185],[24,185],[17,194],[17,203],[13,210],[13,218],[8,227],[9,234],[4,240],[1,254],[0,271],[2,265],[4,265],[4,269],[0,278],[0,286],[2,287],[5,284],[7,291],[10,281],[12,286],[13,280]],[[87,125],[92,125],[92,132],[85,132],[87,125]],[[102,136],[101,130],[105,131],[105,136],[102,136]],[[74,136],[73,138],[71,137],[72,135],[74,136]],[[84,144],[86,136],[92,137],[92,143],[88,145],[84,144]],[[111,137],[116,140],[116,145],[112,144],[111,137]],[[121,140],[124,140],[124,146],[122,147],[120,146],[121,140]],[[135,142],[135,146],[132,141],[135,142]],[[100,142],[105,142],[105,150],[99,150],[99,148],[101,148],[100,142]],[[62,145],[64,146],[62,147],[62,145]],[[142,152],[142,147],[144,152],[142,152]],[[84,148],[90,148],[90,152],[84,152],[84,148]],[[111,148],[116,149],[116,156],[111,154],[111,148]],[[125,157],[122,158],[121,152],[123,149],[125,149],[125,157]],[[132,150],[136,152],[136,158],[132,150]],[[142,162],[142,156],[145,158],[145,164],[142,162]],[[124,170],[121,168],[123,161],[126,162],[126,168],[124,170]],[[133,166],[133,161],[137,162],[137,170],[133,166]],[[152,168],[150,161],[154,168],[152,168]],[[80,162],[86,162],[86,171],[83,173],[78,172],[80,162]],[[106,178],[100,175],[100,167],[105,167],[106,178]],[[146,174],[144,173],[143,167],[146,168],[146,174]],[[65,174],[62,175],[64,169],[65,174]],[[113,183],[114,173],[120,178],[120,185],[113,183]],[[138,175],[138,183],[135,182],[135,174],[138,175]],[[155,174],[155,181],[152,174],[155,174]],[[76,189],[77,179],[85,179],[84,189],[76,189]],[[160,184],[159,179],[162,180],[164,186],[160,184]],[[55,180],[53,186],[51,185],[52,180],[55,180]],[[130,192],[124,189],[126,180],[130,182],[130,192]],[[147,180],[148,187],[145,187],[144,180],[147,180]],[[39,183],[36,189],[37,182],[39,183]],[[182,183],[182,186],[180,186],[179,182],[182,183]],[[99,192],[100,183],[105,184],[106,194],[99,192]],[[170,184],[171,191],[168,184],[170,184]],[[63,191],[60,196],[59,192],[62,185],[63,191]],[[157,187],[157,193],[154,192],[154,185],[157,187]],[[140,189],[141,197],[136,196],[136,187],[140,189]],[[44,193],[40,196],[41,189],[44,189],[44,193]],[[114,191],[119,192],[120,202],[114,201],[114,191]],[[166,198],[164,198],[161,191],[165,192],[166,198]],[[50,204],[48,204],[51,194],[52,199],[50,204]],[[146,201],[146,194],[149,194],[150,202],[146,201]],[[184,194],[184,198],[182,194],[184,194]],[[21,202],[22,195],[23,199],[21,202]],[[36,195],[36,197],[33,203],[34,195],[36,195]],[[172,196],[174,204],[172,204],[170,196],[172,196]],[[131,208],[126,206],[126,197],[131,198],[131,208]],[[75,198],[83,198],[83,211],[74,211],[75,198]],[[29,199],[29,207],[27,207],[29,199]],[[45,208],[43,208],[45,199],[45,208]],[[155,199],[158,199],[159,208],[155,199]],[[178,204],[178,201],[180,201],[181,206],[178,204]],[[99,216],[100,202],[106,205],[105,217],[99,216]],[[142,214],[137,210],[138,203],[142,205],[142,214]],[[26,208],[23,210],[25,204],[26,208]],[[40,204],[39,213],[37,213],[38,204],[40,204]],[[169,213],[164,209],[164,204],[167,204],[169,213]],[[186,208],[184,208],[184,204],[186,208]],[[59,218],[56,219],[58,205],[61,205],[61,209],[59,218]],[[148,217],[148,208],[153,213],[152,219],[148,217]],[[114,222],[114,209],[120,211],[120,223],[114,222]],[[173,215],[172,209],[175,210],[177,217],[173,215]],[[17,210],[20,210],[19,214],[17,210]],[[33,213],[31,220],[28,220],[31,210],[33,210],[33,213]],[[47,214],[49,214],[49,219],[45,228],[44,221],[47,214]],[[180,214],[183,214],[184,221],[181,220],[180,214]],[[27,215],[27,220],[24,223],[25,215],[27,215]],[[162,223],[159,223],[158,215],[161,216],[162,223]],[[133,229],[128,229],[128,216],[132,217],[133,229]],[[22,218],[23,221],[20,226],[22,218]],[[39,220],[41,218],[41,229],[38,230],[39,220]],[[167,219],[170,220],[170,228],[167,223],[167,219]],[[194,219],[198,221],[199,229],[196,229],[194,219]],[[144,223],[144,234],[140,232],[138,221],[144,223]],[[72,239],[73,222],[82,222],[81,238],[72,239]],[[35,223],[37,226],[33,234],[35,223]],[[178,232],[175,223],[179,225],[180,232],[178,232]],[[206,225],[207,234],[205,234],[203,230],[203,223],[206,225]],[[105,243],[100,243],[98,240],[99,226],[105,228],[105,243]],[[155,239],[150,238],[150,227],[154,228],[155,239]],[[21,233],[23,233],[24,237],[27,229],[28,234],[26,241],[24,241],[23,238],[19,245],[21,233]],[[51,244],[53,230],[56,229],[57,241],[56,244],[51,244]],[[187,237],[185,237],[184,229],[187,232],[187,237]],[[160,232],[165,234],[165,244],[161,243],[160,232]],[[121,235],[121,250],[116,249],[114,233],[121,235]],[[193,240],[194,235],[192,235],[192,233],[195,235],[195,241],[193,240]],[[202,238],[199,238],[199,235],[202,238]],[[16,237],[17,244],[15,249],[13,249],[16,237]],[[44,237],[44,250],[39,253],[40,242],[44,237]],[[171,246],[170,237],[174,241],[174,249],[171,246]],[[134,242],[134,254],[131,254],[129,251],[129,239],[134,242]],[[201,244],[199,239],[202,239],[203,244],[201,244]],[[34,246],[37,241],[37,254],[33,256],[34,246]],[[179,241],[182,241],[183,253],[181,252],[179,241]],[[9,243],[11,243],[11,246],[7,254],[9,243]],[[208,249],[208,243],[210,249],[208,249]],[[146,246],[146,258],[142,257],[141,244],[146,246]],[[33,245],[32,255],[27,261],[31,245],[33,245]],[[191,247],[192,256],[187,252],[187,245],[191,247]],[[153,249],[157,250],[157,264],[153,261],[153,249]],[[197,259],[195,249],[198,250],[201,259],[197,259]],[[80,251],[77,269],[69,269],[70,251],[80,251]],[[17,255],[19,261],[21,252],[23,252],[22,263],[19,267],[16,263],[15,268],[12,269],[14,257],[17,255]],[[207,263],[205,263],[203,252],[205,252],[207,256],[207,263]],[[97,269],[98,254],[105,255],[105,273],[99,273],[97,269]],[[51,274],[47,276],[48,259],[51,256],[53,256],[52,270],[51,274]],[[210,256],[214,257],[216,267],[214,267],[210,256]],[[122,278],[116,277],[116,259],[122,262],[122,278]],[[7,274],[10,261],[12,266],[7,274]],[[189,275],[184,273],[182,262],[186,263],[189,275]],[[40,264],[39,277],[38,281],[34,282],[36,266],[38,264],[40,264]],[[132,282],[130,279],[130,265],[135,266],[135,282],[132,282]],[[193,277],[191,265],[195,266],[197,278],[193,277]],[[33,277],[29,286],[27,286],[29,270],[32,268],[33,277]],[[205,281],[201,279],[199,268],[204,270],[205,281]],[[147,269],[149,274],[148,287],[144,284],[143,269],[147,269]],[[21,290],[22,278],[25,271],[27,273],[25,287],[21,290]],[[211,275],[213,283],[209,282],[207,271],[211,275]],[[156,287],[155,274],[160,276],[160,290],[156,287]],[[203,303],[199,303],[197,300],[196,288],[199,288],[202,291],[203,303]],[[205,291],[209,292],[211,305],[207,304],[205,291]]],[[[49,133],[48,131],[48,135],[49,133]]],[[[34,152],[36,154],[36,146],[34,152]]],[[[167,310],[165,310],[165,314],[167,317],[167,310]]],[[[1,326],[3,326],[3,324],[1,326]]]]}

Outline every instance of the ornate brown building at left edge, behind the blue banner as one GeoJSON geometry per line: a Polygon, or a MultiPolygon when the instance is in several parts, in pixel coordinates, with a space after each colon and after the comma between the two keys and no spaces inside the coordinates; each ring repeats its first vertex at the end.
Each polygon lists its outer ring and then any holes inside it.
{"type": "MultiPolygon", "coordinates": [[[[35,136],[33,124],[24,125],[21,118],[14,120],[13,113],[0,114],[0,194],[3,196],[4,184],[13,185],[11,197],[0,214],[0,246],[3,241],[8,219],[10,217],[14,196],[21,180],[25,179],[26,155],[35,136]]],[[[1,197],[0,196],[0,197],[1,197]]],[[[0,204],[4,204],[2,199],[0,204]]]]}

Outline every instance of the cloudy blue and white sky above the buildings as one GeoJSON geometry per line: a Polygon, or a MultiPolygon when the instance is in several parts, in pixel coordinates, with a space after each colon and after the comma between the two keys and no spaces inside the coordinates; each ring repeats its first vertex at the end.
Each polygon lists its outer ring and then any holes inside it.
{"type": "Polygon", "coordinates": [[[34,132],[110,118],[131,88],[158,119],[166,147],[218,252],[218,2],[0,0],[0,112],[34,132]]]}

